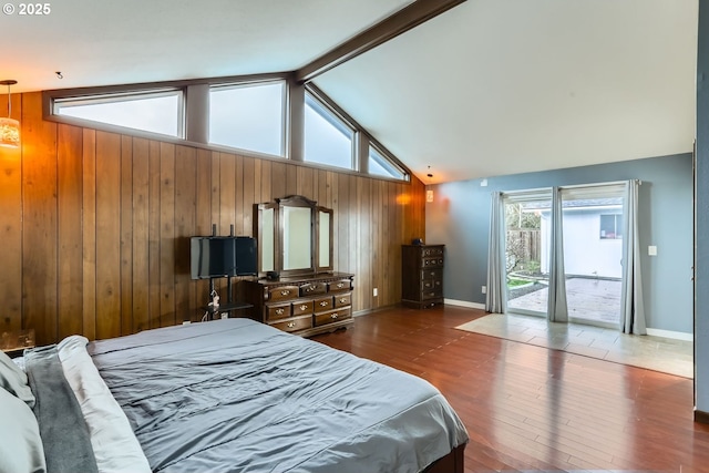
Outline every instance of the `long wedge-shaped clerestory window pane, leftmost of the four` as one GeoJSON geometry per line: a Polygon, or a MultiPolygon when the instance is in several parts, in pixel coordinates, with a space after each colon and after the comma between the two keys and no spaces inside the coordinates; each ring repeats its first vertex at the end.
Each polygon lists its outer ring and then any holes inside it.
{"type": "Polygon", "coordinates": [[[56,99],[54,114],[183,137],[179,90],[56,99]]]}

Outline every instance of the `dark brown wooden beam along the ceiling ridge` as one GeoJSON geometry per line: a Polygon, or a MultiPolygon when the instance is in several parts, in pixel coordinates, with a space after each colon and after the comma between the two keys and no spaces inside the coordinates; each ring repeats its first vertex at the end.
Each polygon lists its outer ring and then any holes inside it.
{"type": "Polygon", "coordinates": [[[330,69],[386,43],[465,0],[417,0],[296,71],[296,81],[309,82],[330,69]]]}

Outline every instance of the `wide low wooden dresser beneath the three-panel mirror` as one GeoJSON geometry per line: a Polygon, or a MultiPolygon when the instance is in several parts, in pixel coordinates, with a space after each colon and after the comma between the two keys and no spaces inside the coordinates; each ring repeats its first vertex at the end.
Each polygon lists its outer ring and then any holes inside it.
{"type": "Polygon", "coordinates": [[[323,273],[245,280],[245,301],[254,318],[280,330],[310,337],[349,327],[352,320],[354,275],[323,273]]]}

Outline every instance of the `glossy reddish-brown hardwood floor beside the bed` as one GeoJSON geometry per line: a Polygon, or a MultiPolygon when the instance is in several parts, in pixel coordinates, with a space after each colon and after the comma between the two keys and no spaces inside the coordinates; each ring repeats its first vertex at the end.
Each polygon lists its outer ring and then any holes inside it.
{"type": "Polygon", "coordinates": [[[482,316],[387,309],[314,340],[439,388],[471,438],[466,472],[709,472],[690,379],[454,329],[482,316]]]}

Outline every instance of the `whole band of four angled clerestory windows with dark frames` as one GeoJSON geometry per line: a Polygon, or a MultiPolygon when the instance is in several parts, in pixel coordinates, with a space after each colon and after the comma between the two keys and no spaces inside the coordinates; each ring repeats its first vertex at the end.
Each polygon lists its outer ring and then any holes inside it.
{"type": "Polygon", "coordinates": [[[229,78],[48,91],[44,96],[50,115],[59,122],[86,122],[85,126],[113,133],[131,134],[134,130],[176,138],[173,142],[410,179],[405,166],[347,112],[315,85],[304,89],[289,83],[285,75],[273,74],[244,78],[242,82],[229,78]],[[295,100],[304,102],[292,103],[295,100]],[[290,116],[300,110],[301,116],[290,116]]]}

